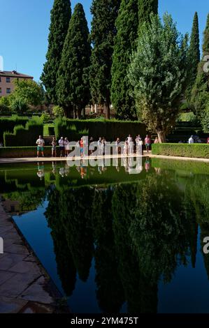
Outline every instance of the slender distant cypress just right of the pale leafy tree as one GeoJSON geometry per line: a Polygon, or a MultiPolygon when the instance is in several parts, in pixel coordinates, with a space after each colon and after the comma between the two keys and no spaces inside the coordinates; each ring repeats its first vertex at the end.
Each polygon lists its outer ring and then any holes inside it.
{"type": "Polygon", "coordinates": [[[199,66],[199,62],[201,59],[200,53],[200,40],[199,40],[199,19],[198,14],[194,14],[193,26],[192,26],[192,34],[190,38],[190,46],[189,46],[189,81],[188,87],[186,91],[187,103],[190,103],[192,96],[192,88],[194,87],[194,83],[196,81],[196,74],[199,66]]]}

